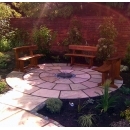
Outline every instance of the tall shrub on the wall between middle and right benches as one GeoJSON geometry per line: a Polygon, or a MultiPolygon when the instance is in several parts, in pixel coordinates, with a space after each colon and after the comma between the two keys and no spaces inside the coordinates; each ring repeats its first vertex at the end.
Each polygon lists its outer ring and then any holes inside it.
{"type": "Polygon", "coordinates": [[[112,17],[104,18],[103,23],[99,25],[99,33],[101,38],[98,40],[97,44],[97,58],[104,61],[111,57],[116,51],[114,47],[114,39],[118,33],[112,17]]]}

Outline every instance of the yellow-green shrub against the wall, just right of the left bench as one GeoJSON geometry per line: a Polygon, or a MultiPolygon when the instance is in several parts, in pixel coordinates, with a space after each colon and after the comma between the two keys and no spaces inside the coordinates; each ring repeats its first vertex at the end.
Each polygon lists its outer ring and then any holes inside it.
{"type": "Polygon", "coordinates": [[[40,26],[40,28],[34,28],[33,30],[33,40],[37,44],[39,52],[45,54],[46,56],[50,54],[51,43],[56,38],[56,32],[52,32],[45,26],[40,26]]]}

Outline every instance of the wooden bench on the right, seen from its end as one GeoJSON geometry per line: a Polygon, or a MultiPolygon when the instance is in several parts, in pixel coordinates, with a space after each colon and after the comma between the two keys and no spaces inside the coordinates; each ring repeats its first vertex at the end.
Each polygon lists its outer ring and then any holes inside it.
{"type": "Polygon", "coordinates": [[[120,64],[121,64],[121,58],[114,57],[104,61],[102,66],[93,68],[93,70],[102,73],[102,82],[99,83],[98,86],[103,85],[106,79],[111,79],[110,87],[118,88],[114,84],[114,80],[115,79],[122,80],[122,77],[120,76],[120,64]]]}

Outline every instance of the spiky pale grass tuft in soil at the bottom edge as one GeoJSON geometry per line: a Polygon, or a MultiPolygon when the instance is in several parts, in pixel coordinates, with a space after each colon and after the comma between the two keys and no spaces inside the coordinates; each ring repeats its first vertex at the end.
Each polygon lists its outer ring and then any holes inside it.
{"type": "Polygon", "coordinates": [[[82,127],[90,127],[93,125],[93,114],[80,116],[78,119],[78,123],[82,127]]]}

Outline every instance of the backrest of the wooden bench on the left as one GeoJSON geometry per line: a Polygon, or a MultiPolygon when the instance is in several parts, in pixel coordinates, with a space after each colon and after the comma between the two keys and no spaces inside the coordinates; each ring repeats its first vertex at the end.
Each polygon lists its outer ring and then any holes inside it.
{"type": "Polygon", "coordinates": [[[24,55],[33,55],[33,51],[37,50],[36,45],[30,45],[30,46],[21,46],[13,48],[15,53],[15,58],[18,59],[21,56],[24,55]]]}

